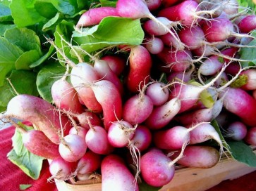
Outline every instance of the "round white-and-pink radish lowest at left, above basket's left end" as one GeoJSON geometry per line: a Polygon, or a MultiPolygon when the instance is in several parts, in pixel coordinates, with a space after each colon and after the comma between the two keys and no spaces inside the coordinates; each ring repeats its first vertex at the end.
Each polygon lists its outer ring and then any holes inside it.
{"type": "Polygon", "coordinates": [[[76,168],[76,163],[74,162],[66,162],[61,157],[53,159],[49,165],[49,171],[51,173],[52,178],[56,178],[57,180],[68,180],[73,176],[73,171],[76,168]]]}

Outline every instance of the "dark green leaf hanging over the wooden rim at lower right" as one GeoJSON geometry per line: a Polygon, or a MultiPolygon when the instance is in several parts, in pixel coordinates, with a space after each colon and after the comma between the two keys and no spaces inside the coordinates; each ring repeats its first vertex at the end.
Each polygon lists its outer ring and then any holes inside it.
{"type": "Polygon", "coordinates": [[[238,162],[243,162],[248,166],[256,167],[256,154],[252,148],[241,141],[227,141],[231,156],[238,162]]]}

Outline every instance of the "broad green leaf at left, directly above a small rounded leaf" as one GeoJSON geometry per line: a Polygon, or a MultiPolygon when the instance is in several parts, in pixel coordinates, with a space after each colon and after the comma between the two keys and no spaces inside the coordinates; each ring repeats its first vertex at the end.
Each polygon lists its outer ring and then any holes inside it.
{"type": "Polygon", "coordinates": [[[11,43],[22,48],[23,51],[37,50],[41,52],[41,42],[32,29],[12,28],[6,30],[4,37],[11,43]]]}

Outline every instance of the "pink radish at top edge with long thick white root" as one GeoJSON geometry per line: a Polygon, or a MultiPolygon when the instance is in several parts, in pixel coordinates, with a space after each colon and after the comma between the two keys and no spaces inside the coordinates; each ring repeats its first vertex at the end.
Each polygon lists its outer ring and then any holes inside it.
{"type": "MultiPolygon", "coordinates": [[[[173,38],[175,38],[176,41],[180,41],[169,29],[169,27],[166,27],[164,23],[159,21],[154,15],[152,15],[152,13],[150,13],[150,10],[144,0],[118,0],[116,3],[116,10],[121,17],[133,19],[150,18],[150,20],[158,23],[159,26],[161,26],[161,29],[165,29],[167,32],[173,35],[173,38]]],[[[180,47],[183,49],[182,43],[180,44],[180,47]]]]}

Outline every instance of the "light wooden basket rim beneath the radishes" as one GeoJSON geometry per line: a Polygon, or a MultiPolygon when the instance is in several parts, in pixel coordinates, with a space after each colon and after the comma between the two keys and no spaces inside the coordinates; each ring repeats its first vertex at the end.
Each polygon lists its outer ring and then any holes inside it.
{"type": "MultiPolygon", "coordinates": [[[[254,150],[256,153],[256,150],[254,150]]],[[[245,174],[256,171],[256,168],[237,162],[234,159],[223,157],[220,162],[209,169],[183,167],[176,169],[173,180],[159,191],[204,191],[218,185],[223,180],[239,178],[245,174]]],[[[59,191],[101,191],[101,183],[70,184],[56,180],[59,191]]]]}

